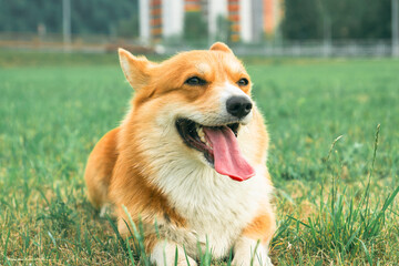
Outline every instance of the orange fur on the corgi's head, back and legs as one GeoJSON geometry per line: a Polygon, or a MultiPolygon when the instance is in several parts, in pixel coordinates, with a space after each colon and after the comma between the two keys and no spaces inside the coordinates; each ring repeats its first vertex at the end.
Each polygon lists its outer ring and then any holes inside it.
{"type": "MultiPolygon", "coordinates": [[[[101,207],[105,203],[115,206],[119,231],[122,235],[129,234],[123,205],[135,223],[143,223],[146,250],[151,253],[157,244],[154,221],[157,221],[161,234],[165,238],[173,234],[171,228],[190,232],[193,223],[187,222],[192,217],[180,212],[178,204],[173,203],[171,195],[160,185],[162,182],[158,178],[164,173],[162,171],[167,170],[168,163],[173,164],[172,161],[167,161],[171,154],[157,152],[170,145],[162,135],[175,131],[173,125],[165,122],[165,115],[177,112],[176,110],[196,115],[212,115],[221,110],[218,99],[227,83],[236,84],[242,78],[248,79],[249,84],[239,88],[248,96],[252,83],[243,64],[223,43],[215,43],[211,51],[181,53],[162,63],[153,63],[145,58],[136,58],[120,50],[120,61],[127,81],[136,91],[135,96],[123,123],[106,133],[95,145],[88,160],[85,181],[89,200],[95,207],[101,207]],[[193,75],[208,81],[207,84],[185,84],[185,80],[193,75]],[[165,162],[166,165],[154,164],[157,161],[165,162]],[[161,170],[161,166],[165,170],[161,170]]],[[[253,133],[250,137],[255,144],[245,153],[253,164],[264,165],[268,134],[263,117],[256,110],[253,120],[247,131],[253,133]]],[[[171,141],[178,145],[177,152],[196,162],[198,152],[184,145],[177,133],[175,135],[176,139],[171,141]]],[[[245,141],[241,137],[238,136],[238,141],[245,141]]],[[[266,183],[272,187],[267,168],[265,172],[263,178],[266,178],[266,183]]],[[[262,206],[257,206],[257,214],[242,228],[242,236],[260,239],[267,244],[275,229],[275,217],[268,202],[262,206]]],[[[174,238],[173,241],[176,241],[174,238]]]]}

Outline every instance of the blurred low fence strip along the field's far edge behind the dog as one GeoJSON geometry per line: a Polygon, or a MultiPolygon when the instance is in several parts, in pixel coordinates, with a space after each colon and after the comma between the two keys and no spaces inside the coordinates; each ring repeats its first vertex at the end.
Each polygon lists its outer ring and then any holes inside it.
{"type": "MultiPolygon", "coordinates": [[[[112,52],[124,47],[135,53],[173,54],[192,49],[206,49],[207,45],[185,43],[158,43],[143,45],[139,41],[112,35],[74,35],[71,43],[63,43],[62,34],[38,35],[34,33],[0,33],[0,49],[68,51],[68,52],[112,52]]],[[[344,40],[284,41],[258,44],[232,43],[238,55],[260,57],[393,57],[399,55],[390,40],[344,40]]]]}

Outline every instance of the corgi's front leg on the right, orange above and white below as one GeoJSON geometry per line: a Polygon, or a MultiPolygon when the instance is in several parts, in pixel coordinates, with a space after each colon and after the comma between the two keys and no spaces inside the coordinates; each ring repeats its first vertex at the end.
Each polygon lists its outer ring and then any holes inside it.
{"type": "Polygon", "coordinates": [[[233,265],[272,266],[268,256],[268,244],[276,228],[275,216],[268,206],[244,231],[234,245],[233,265]],[[267,211],[267,212],[266,212],[267,211]]]}

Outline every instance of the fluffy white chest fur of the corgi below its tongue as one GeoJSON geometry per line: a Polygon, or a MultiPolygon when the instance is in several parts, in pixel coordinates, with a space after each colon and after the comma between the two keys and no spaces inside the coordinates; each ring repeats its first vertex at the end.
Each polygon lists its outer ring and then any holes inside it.
{"type": "Polygon", "coordinates": [[[192,237],[175,236],[183,238],[187,253],[196,253],[200,242],[203,248],[207,243],[215,257],[228,254],[244,226],[255,217],[259,202],[268,197],[270,187],[264,168],[259,166],[248,181],[236,182],[198,163],[158,180],[171,205],[187,222],[186,232],[180,233],[192,237]]]}

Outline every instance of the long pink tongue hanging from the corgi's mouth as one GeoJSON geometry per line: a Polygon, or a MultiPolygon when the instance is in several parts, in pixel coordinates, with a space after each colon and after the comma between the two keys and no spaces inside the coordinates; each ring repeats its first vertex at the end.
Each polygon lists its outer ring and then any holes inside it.
{"type": "Polygon", "coordinates": [[[245,181],[255,175],[255,170],[239,152],[237,139],[229,127],[204,126],[204,132],[213,147],[217,173],[235,181],[245,181]]]}

